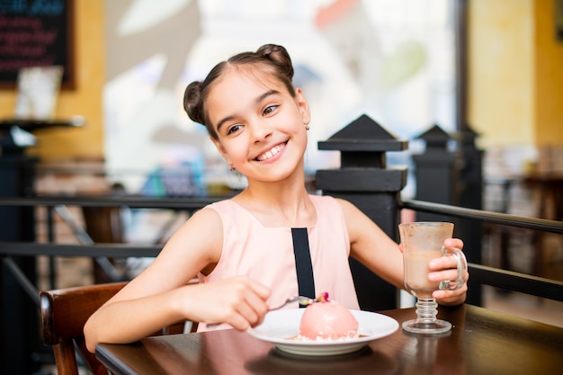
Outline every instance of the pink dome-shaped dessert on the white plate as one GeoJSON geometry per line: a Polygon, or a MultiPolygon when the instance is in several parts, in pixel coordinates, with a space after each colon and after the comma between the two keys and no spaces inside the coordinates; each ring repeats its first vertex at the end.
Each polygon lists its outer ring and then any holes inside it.
{"type": "Polygon", "coordinates": [[[358,321],[348,308],[328,300],[324,293],[305,308],[299,337],[304,340],[341,340],[358,336],[358,321]]]}

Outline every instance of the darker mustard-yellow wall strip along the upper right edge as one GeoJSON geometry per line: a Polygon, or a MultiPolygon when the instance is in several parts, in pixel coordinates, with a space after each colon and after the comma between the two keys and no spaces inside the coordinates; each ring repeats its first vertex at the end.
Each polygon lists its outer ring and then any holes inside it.
{"type": "Polygon", "coordinates": [[[563,144],[563,41],[555,40],[554,0],[535,1],[535,116],[538,145],[563,144]]]}

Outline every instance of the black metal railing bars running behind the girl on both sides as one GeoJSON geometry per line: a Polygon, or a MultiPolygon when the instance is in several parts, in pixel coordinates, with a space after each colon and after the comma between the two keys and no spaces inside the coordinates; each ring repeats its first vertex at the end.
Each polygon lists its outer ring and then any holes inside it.
{"type": "MultiPolygon", "coordinates": [[[[220,198],[190,198],[190,199],[149,199],[141,197],[34,197],[34,198],[0,198],[0,206],[46,206],[48,208],[65,206],[84,207],[129,207],[142,209],[171,209],[171,210],[199,210],[220,198]]],[[[409,209],[442,214],[460,219],[472,219],[480,222],[527,228],[543,232],[563,234],[563,221],[528,218],[486,210],[472,210],[425,201],[402,201],[398,209],[409,209]]],[[[52,220],[47,220],[52,226],[52,220]]],[[[53,228],[48,228],[49,233],[53,228]]],[[[51,237],[52,238],[52,237],[51,237]]],[[[19,272],[16,264],[11,262],[10,256],[85,256],[85,257],[153,257],[162,246],[159,245],[130,245],[130,244],[90,244],[90,245],[61,245],[55,243],[0,243],[0,255],[3,257],[7,269],[13,272],[16,279],[30,296],[36,296],[33,283],[26,280],[19,272]]],[[[563,282],[541,278],[538,276],[512,272],[483,264],[469,263],[469,272],[473,284],[483,284],[520,291],[534,296],[563,301],[563,282]]],[[[32,297],[35,299],[35,297],[32,297]]]]}

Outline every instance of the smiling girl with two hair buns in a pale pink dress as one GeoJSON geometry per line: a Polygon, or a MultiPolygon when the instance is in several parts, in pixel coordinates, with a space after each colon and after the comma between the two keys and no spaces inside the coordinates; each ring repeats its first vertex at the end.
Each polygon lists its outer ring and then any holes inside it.
{"type": "MultiPolygon", "coordinates": [[[[206,126],[248,186],[197,211],[145,272],[90,317],[85,324],[90,351],[98,343],[130,343],[184,320],[201,322],[200,330],[208,324],[238,330],[259,325],[269,307],[299,294],[294,228],[306,238],[312,269],[306,273],[317,292],[359,308],[349,255],[403,287],[402,253],[393,240],[348,201],[308,195],[303,155],[310,114],[292,76],[286,49],[264,45],[219,63],[205,80],[188,85],[186,112],[206,126]],[[195,276],[200,282],[190,283],[195,276]]],[[[444,246],[463,244],[448,239],[444,246]]],[[[453,263],[450,257],[433,259],[429,279],[453,278],[453,263]]],[[[460,304],[466,290],[437,290],[433,297],[460,304]]]]}

